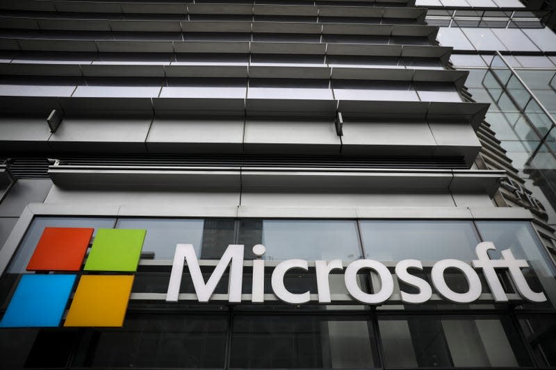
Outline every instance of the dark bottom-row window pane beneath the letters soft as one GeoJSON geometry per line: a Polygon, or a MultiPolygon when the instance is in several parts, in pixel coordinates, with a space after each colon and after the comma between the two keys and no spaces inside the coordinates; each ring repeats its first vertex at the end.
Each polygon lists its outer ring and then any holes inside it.
{"type": "Polygon", "coordinates": [[[387,367],[521,367],[528,355],[505,316],[379,316],[387,367]]]}

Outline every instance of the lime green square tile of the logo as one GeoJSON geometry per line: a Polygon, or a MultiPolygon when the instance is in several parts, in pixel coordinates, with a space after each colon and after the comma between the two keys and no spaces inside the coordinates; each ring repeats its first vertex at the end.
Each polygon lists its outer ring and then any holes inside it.
{"type": "Polygon", "coordinates": [[[147,230],[100,228],[85,262],[86,271],[137,271],[147,230]]]}

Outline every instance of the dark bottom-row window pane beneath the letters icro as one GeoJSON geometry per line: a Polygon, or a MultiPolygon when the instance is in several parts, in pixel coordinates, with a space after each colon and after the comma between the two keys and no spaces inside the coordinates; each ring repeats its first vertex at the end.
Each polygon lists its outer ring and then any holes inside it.
{"type": "Polygon", "coordinates": [[[373,327],[365,317],[236,316],[230,367],[361,369],[374,367],[373,327]]]}

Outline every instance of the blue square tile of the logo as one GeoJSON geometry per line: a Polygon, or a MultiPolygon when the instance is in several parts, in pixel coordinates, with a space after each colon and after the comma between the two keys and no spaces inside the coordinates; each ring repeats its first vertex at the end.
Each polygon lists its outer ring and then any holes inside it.
{"type": "Polygon", "coordinates": [[[75,275],[24,275],[0,321],[2,328],[58,326],[75,275]]]}

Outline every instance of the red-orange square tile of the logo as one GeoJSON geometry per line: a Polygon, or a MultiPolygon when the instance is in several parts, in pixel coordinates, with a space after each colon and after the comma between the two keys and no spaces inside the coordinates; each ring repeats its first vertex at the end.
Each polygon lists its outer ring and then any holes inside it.
{"type": "Polygon", "coordinates": [[[93,228],[44,228],[28,271],[79,271],[93,228]]]}

